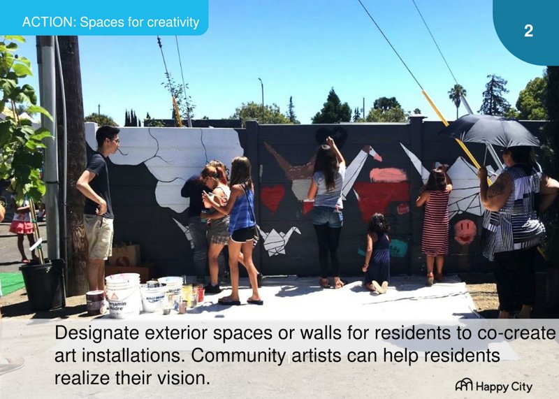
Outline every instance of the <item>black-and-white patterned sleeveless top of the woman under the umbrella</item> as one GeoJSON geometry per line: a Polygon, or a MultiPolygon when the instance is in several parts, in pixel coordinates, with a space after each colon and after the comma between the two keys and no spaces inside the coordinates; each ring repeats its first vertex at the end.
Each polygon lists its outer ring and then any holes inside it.
{"type": "Polygon", "coordinates": [[[504,168],[512,179],[512,189],[507,203],[495,212],[484,213],[484,228],[489,231],[484,256],[493,261],[497,252],[529,249],[539,245],[546,235],[546,228],[537,215],[535,204],[542,173],[521,166],[504,168]]]}

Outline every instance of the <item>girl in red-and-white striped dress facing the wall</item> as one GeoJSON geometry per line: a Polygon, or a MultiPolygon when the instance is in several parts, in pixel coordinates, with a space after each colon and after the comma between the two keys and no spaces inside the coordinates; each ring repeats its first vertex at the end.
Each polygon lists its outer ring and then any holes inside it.
{"type": "Polygon", "coordinates": [[[427,259],[427,285],[433,280],[442,280],[444,255],[449,253],[449,194],[452,181],[447,175],[447,165],[433,169],[427,184],[421,187],[421,194],[415,201],[416,206],[425,206],[421,252],[427,259]],[[436,263],[437,273],[433,276],[436,263]]]}

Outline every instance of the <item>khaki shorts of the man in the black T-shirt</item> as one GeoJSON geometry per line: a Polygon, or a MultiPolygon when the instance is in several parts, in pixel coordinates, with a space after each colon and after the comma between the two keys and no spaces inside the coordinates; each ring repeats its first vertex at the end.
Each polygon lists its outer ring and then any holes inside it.
{"type": "Polygon", "coordinates": [[[89,243],[89,259],[106,261],[112,255],[112,220],[98,215],[83,215],[85,235],[89,243]]]}

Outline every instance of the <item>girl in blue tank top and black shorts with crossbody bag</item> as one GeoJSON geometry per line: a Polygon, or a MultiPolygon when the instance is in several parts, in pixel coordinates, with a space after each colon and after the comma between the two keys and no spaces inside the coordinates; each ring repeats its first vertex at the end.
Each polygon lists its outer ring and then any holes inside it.
{"type": "Polygon", "coordinates": [[[203,193],[202,198],[216,210],[229,215],[229,269],[231,272],[231,295],[219,298],[219,305],[240,305],[239,299],[239,254],[245,259],[245,268],[252,286],[252,296],[247,303],[263,305],[258,292],[258,272],[252,261],[252,241],[256,229],[254,219],[254,187],[250,161],[247,157],[236,157],[231,162],[231,195],[226,203],[218,203],[212,196],[203,193]]]}

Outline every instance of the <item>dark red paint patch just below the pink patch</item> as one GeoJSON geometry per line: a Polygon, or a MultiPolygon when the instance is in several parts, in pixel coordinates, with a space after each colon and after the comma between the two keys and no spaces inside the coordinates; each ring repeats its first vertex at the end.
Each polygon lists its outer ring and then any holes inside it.
{"type": "Polygon", "coordinates": [[[358,195],[359,210],[363,222],[380,212],[386,215],[390,203],[409,202],[409,183],[366,183],[356,182],[354,189],[358,195]]]}

